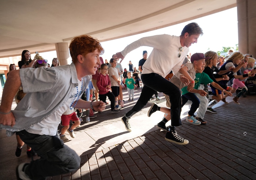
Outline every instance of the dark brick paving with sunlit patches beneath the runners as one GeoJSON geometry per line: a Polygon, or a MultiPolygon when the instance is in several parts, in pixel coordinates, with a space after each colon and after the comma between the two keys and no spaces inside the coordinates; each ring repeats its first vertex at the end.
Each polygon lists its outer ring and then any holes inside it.
{"type": "MultiPolygon", "coordinates": [[[[176,130],[189,139],[187,145],[167,142],[164,131],[153,131],[85,152],[78,171],[47,180],[256,180],[256,96],[241,97],[239,102],[216,108],[217,114],[207,112],[205,126],[183,122],[176,130]]],[[[164,106],[164,97],[158,103],[164,106]]],[[[81,130],[117,122],[134,104],[120,114],[97,113],[97,120],[83,124],[81,130]]],[[[135,116],[147,113],[149,106],[135,116]]]]}

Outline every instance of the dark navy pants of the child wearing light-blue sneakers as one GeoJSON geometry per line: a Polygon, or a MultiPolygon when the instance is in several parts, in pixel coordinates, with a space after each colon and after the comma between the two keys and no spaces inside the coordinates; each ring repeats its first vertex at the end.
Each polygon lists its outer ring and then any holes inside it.
{"type": "Polygon", "coordinates": [[[188,92],[182,95],[182,107],[188,102],[188,100],[192,101],[191,108],[188,111],[188,115],[193,116],[197,108],[199,107],[200,100],[198,99],[198,97],[196,97],[195,93],[188,92]]]}

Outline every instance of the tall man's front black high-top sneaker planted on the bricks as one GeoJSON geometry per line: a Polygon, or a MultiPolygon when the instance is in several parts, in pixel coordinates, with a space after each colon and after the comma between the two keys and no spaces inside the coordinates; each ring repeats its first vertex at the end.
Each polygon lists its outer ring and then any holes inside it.
{"type": "Polygon", "coordinates": [[[165,135],[165,140],[179,144],[179,145],[185,145],[185,144],[189,143],[187,139],[180,137],[177,134],[177,131],[175,131],[175,127],[172,127],[172,126],[167,127],[167,133],[165,135]]]}

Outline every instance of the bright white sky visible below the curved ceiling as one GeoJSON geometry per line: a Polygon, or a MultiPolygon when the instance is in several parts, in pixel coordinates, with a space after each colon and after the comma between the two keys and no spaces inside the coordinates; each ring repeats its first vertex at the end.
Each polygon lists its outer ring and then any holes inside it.
{"type": "MultiPolygon", "coordinates": [[[[125,38],[115,39],[111,41],[101,42],[105,53],[101,55],[103,60],[108,61],[112,58],[112,55],[122,51],[130,43],[142,38],[158,34],[169,34],[180,36],[182,29],[188,23],[196,22],[203,30],[203,35],[199,37],[197,43],[192,44],[189,47],[191,55],[194,53],[206,53],[208,50],[221,51],[222,47],[236,47],[238,44],[238,30],[237,30],[237,8],[227,9],[226,11],[218,12],[216,14],[204,16],[202,18],[194,19],[188,22],[176,24],[161,28],[158,30],[144,32],[125,38]]],[[[152,51],[152,47],[142,46],[136,50],[127,54],[122,62],[123,68],[128,68],[129,61],[132,61],[133,66],[138,68],[139,60],[143,58],[142,52],[147,50],[148,55],[152,51]]],[[[49,64],[52,64],[52,59],[57,57],[56,51],[50,51],[46,53],[39,53],[42,57],[49,60],[49,64]]],[[[35,54],[31,54],[31,58],[35,54]]],[[[71,63],[71,58],[69,59],[71,63]]]]}

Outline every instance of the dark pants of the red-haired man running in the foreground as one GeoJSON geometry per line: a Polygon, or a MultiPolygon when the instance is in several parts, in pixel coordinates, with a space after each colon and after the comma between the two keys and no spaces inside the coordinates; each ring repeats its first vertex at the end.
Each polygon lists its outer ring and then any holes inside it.
{"type": "Polygon", "coordinates": [[[64,145],[57,135],[31,134],[25,130],[16,132],[41,158],[31,161],[25,173],[33,180],[45,180],[48,176],[62,175],[79,169],[80,157],[64,145]]]}

